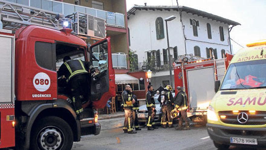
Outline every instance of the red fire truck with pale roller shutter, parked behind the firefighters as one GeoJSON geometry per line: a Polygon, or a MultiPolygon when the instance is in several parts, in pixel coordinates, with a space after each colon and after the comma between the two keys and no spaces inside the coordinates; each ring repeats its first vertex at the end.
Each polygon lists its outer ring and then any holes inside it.
{"type": "Polygon", "coordinates": [[[193,61],[183,57],[180,63],[174,64],[175,88],[184,87],[189,101],[187,116],[193,122],[206,124],[207,108],[215,95],[215,81],[222,80],[231,59],[230,54],[226,54],[222,59],[207,58],[193,61]]]}

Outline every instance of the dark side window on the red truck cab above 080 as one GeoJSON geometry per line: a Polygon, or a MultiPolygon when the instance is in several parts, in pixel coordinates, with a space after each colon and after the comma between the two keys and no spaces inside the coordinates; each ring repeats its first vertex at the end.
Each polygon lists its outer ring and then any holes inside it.
{"type": "Polygon", "coordinates": [[[56,52],[53,43],[36,42],[35,59],[37,64],[49,70],[56,71],[56,52]]]}

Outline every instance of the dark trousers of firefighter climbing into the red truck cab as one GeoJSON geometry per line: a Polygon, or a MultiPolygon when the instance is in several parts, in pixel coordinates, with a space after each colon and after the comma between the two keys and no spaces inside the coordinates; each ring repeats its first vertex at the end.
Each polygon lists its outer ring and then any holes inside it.
{"type": "Polygon", "coordinates": [[[88,74],[75,75],[69,81],[70,97],[76,114],[83,112],[82,102],[88,99],[88,74]]]}

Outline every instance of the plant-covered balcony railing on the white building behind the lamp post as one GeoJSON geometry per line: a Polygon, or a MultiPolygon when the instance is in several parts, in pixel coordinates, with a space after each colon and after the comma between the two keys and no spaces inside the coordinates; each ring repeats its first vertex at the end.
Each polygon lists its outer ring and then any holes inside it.
{"type": "Polygon", "coordinates": [[[130,72],[139,72],[139,71],[147,71],[151,70],[153,72],[169,70],[168,62],[161,61],[160,63],[157,61],[154,62],[139,62],[133,63],[130,65],[130,72]]]}

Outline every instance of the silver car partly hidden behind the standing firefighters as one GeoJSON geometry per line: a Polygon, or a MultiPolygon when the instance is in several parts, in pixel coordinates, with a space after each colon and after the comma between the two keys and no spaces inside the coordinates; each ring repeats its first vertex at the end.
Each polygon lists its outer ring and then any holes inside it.
{"type": "MultiPolygon", "coordinates": [[[[175,96],[175,93],[172,93],[173,97],[175,96]]],[[[154,122],[161,122],[162,118],[162,111],[161,111],[161,106],[160,102],[157,100],[159,95],[154,96],[154,102],[155,102],[155,109],[156,109],[156,115],[154,117],[154,122]]],[[[148,109],[146,105],[142,105],[139,107],[138,111],[138,122],[141,125],[144,125],[148,122],[148,109]]]]}

